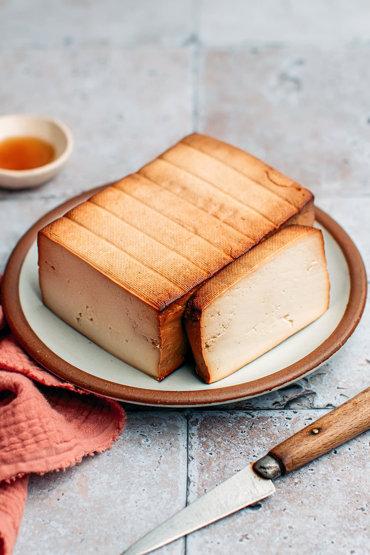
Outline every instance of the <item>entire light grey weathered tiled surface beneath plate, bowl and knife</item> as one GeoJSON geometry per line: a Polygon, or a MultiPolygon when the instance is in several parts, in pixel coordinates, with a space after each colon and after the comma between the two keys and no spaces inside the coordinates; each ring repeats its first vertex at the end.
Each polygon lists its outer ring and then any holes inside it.
{"type": "MultiPolygon", "coordinates": [[[[57,179],[0,191],[0,271],[39,216],[192,130],[312,189],[369,268],[369,62],[367,0],[0,0],[0,113],[59,117],[75,137],[57,179]]],[[[118,555],[367,387],[369,320],[367,309],[330,364],[285,390],[220,410],[127,406],[110,451],[31,477],[15,553],[118,555]]],[[[369,441],[358,437],[278,481],[272,498],[160,553],[370,553],[369,441]]]]}

